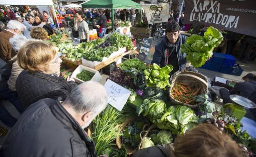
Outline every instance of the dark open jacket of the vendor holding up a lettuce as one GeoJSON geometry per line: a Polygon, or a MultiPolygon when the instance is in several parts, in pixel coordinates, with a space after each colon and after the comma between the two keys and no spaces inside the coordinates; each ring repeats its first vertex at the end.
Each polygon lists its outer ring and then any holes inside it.
{"type": "MultiPolygon", "coordinates": [[[[187,40],[187,36],[185,35],[179,35],[178,41],[176,42],[176,52],[177,52],[177,56],[178,56],[178,66],[179,66],[179,70],[182,71],[183,69],[185,69],[185,65],[187,63],[187,59],[186,59],[186,53],[182,53],[181,52],[181,44],[185,44],[186,40],[187,40]]],[[[162,40],[160,41],[159,44],[157,44],[155,46],[155,53],[153,55],[153,60],[151,62],[151,64],[155,63],[158,64],[160,67],[165,66],[165,52],[168,49],[168,39],[167,36],[165,35],[164,38],[162,38],[162,40]]]]}

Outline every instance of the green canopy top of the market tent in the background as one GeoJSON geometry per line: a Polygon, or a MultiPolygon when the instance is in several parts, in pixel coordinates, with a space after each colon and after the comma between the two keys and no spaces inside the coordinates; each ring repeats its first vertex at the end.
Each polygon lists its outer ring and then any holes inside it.
{"type": "Polygon", "coordinates": [[[81,5],[83,8],[142,9],[138,3],[132,0],[88,0],[81,5]]]}

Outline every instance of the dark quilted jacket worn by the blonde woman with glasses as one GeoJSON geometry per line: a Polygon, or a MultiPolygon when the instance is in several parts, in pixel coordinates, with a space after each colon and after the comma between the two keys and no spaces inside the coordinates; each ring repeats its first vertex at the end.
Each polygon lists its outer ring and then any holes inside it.
{"type": "Polygon", "coordinates": [[[62,97],[62,100],[65,100],[75,86],[73,81],[66,82],[61,77],[39,72],[22,71],[16,80],[18,96],[26,108],[44,98],[62,97]]]}

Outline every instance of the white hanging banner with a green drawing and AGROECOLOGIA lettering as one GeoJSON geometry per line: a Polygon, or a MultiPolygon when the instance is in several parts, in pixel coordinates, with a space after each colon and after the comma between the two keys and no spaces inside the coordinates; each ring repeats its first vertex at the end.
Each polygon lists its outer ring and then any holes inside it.
{"type": "Polygon", "coordinates": [[[167,22],[169,18],[169,4],[151,4],[141,6],[145,13],[149,24],[167,22]]]}

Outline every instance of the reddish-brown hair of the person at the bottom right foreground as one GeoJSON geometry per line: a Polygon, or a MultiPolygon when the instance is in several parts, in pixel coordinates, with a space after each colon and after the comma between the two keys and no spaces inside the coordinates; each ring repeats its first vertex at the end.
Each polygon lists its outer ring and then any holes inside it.
{"type": "Polygon", "coordinates": [[[199,124],[178,136],[171,157],[243,157],[242,151],[228,135],[212,124],[199,124]]]}

